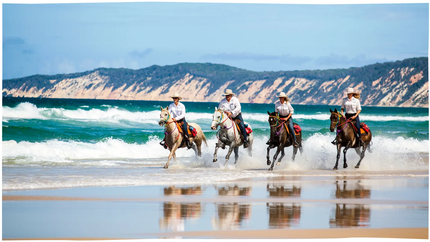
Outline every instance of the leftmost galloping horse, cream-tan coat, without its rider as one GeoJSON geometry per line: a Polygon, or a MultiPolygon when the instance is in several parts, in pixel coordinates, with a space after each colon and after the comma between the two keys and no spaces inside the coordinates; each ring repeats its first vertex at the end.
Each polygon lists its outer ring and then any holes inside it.
{"type": "MultiPolygon", "coordinates": [[[[170,113],[169,113],[169,107],[166,107],[166,109],[163,109],[163,107],[160,107],[160,108],[161,108],[161,113],[160,113],[160,121],[158,121],[158,124],[160,126],[163,126],[163,125],[166,126],[166,130],[164,131],[164,134],[166,135],[165,142],[167,147],[169,147],[169,151],[170,151],[169,159],[167,160],[167,163],[164,166],[164,168],[169,168],[170,159],[172,159],[173,157],[173,159],[176,161],[176,154],[175,154],[176,149],[187,147],[187,145],[184,142],[181,146],[182,140],[184,139],[184,134],[179,132],[176,121],[172,120],[172,117],[170,116],[170,113]]],[[[197,123],[188,123],[188,125],[193,126],[194,129],[197,130],[196,137],[192,137],[192,135],[190,135],[190,141],[194,142],[191,148],[193,148],[197,156],[202,156],[202,149],[201,149],[202,142],[205,142],[206,147],[208,147],[208,143],[206,142],[206,137],[203,134],[202,129],[197,123]]],[[[183,132],[188,132],[188,131],[183,130],[183,132]]]]}

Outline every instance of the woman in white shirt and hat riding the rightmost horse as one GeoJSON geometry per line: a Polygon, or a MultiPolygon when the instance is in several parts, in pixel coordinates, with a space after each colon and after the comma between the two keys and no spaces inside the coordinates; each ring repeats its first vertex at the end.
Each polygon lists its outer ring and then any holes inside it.
{"type": "Polygon", "coordinates": [[[358,92],[355,92],[352,87],[348,87],[347,91],[344,93],[346,93],[348,97],[342,99],[341,115],[345,119],[351,119],[351,122],[353,120],[356,121],[355,127],[357,129],[359,145],[363,146],[364,142],[361,140],[360,132],[360,118],[358,117],[359,113],[361,112],[361,105],[359,100],[360,94],[358,92]],[[346,111],[345,115],[344,110],[346,111]]]}

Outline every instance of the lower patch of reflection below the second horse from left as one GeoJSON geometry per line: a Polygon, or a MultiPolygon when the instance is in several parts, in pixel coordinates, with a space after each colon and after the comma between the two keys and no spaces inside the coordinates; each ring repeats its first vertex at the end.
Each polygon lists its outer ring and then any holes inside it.
{"type": "Polygon", "coordinates": [[[251,217],[251,204],[215,203],[215,213],[216,216],[212,217],[214,230],[240,230],[243,221],[251,217]]]}

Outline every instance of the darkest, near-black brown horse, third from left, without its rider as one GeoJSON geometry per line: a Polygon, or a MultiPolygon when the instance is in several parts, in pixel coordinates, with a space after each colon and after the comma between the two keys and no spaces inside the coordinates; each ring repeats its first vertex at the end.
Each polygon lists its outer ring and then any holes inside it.
{"type": "MultiPolygon", "coordinates": [[[[269,168],[269,171],[273,170],[273,165],[275,164],[275,160],[279,155],[279,152],[281,152],[281,157],[279,157],[278,162],[276,165],[279,165],[281,163],[282,158],[285,156],[285,147],[289,147],[293,145],[293,139],[289,135],[289,132],[287,131],[287,128],[285,127],[282,120],[279,119],[279,116],[276,115],[275,112],[269,113],[267,111],[267,114],[269,114],[269,124],[270,124],[270,139],[269,139],[269,146],[267,147],[267,165],[272,165],[269,168]],[[273,162],[270,162],[269,159],[269,152],[270,149],[273,149],[274,147],[277,147],[275,156],[273,156],[273,162]]],[[[289,120],[287,121],[289,122],[289,120]]],[[[286,122],[286,124],[287,124],[286,122]]],[[[297,123],[293,123],[297,125],[297,123]]],[[[294,135],[294,134],[293,134],[294,135]]],[[[300,154],[303,156],[303,140],[301,139],[301,131],[298,135],[296,135],[296,141],[298,144],[298,147],[293,147],[293,156],[292,161],[294,162],[295,155],[297,154],[297,149],[300,150],[300,154]]]]}

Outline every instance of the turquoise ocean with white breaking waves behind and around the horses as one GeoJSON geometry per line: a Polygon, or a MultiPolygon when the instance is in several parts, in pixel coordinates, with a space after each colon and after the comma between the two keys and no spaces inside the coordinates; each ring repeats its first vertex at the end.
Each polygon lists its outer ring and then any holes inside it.
{"type": "Polygon", "coordinates": [[[163,169],[169,151],[158,144],[164,137],[158,120],[160,107],[170,103],[3,97],[3,190],[213,183],[283,175],[428,174],[428,108],[362,107],[360,120],[372,130],[373,152],[366,152],[355,169],[359,156],[350,150],[348,168],[340,165],[333,171],[336,148],[330,141],[335,132],[329,131],[329,110],[339,107],[294,102],[293,119],[301,126],[305,149],[295,162],[289,147],[281,165],[267,171],[267,111],[272,112],[274,104],[241,104],[243,118],[254,131],[253,156],[240,147],[238,164],[230,158],[224,168],[227,150],[220,149],[218,162],[212,162],[217,138],[210,125],[218,103],[183,102],[187,121],[200,125],[209,147],[199,158],[193,150],[179,149],[178,161],[163,169]]]}

